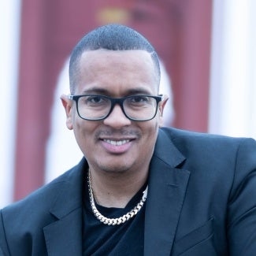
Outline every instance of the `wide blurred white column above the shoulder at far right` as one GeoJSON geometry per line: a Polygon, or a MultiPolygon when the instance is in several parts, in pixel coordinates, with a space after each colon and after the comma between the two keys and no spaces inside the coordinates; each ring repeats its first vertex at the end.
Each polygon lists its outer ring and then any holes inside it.
{"type": "Polygon", "coordinates": [[[215,0],[209,132],[256,138],[254,0],[215,0]]]}

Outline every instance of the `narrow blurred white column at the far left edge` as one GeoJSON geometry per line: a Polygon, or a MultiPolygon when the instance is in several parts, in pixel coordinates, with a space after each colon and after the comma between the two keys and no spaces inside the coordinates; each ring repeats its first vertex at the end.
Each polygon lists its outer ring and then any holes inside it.
{"type": "Polygon", "coordinates": [[[0,208],[13,200],[20,0],[0,2],[0,208]]]}

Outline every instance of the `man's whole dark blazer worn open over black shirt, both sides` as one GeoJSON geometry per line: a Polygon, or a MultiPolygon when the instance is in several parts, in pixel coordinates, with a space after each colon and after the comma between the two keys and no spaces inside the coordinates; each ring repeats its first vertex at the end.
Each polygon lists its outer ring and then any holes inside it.
{"type": "MultiPolygon", "coordinates": [[[[87,161],[7,206],[0,255],[81,255],[87,161]]],[[[150,162],[144,254],[256,254],[256,143],[161,128],[150,162]]]]}

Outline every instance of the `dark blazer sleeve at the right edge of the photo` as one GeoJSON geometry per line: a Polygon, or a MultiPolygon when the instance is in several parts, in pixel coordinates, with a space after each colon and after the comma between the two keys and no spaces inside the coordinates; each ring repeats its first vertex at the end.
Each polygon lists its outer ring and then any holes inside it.
{"type": "Polygon", "coordinates": [[[256,142],[243,139],[236,154],[228,202],[227,236],[230,255],[256,252],[256,142]]]}

